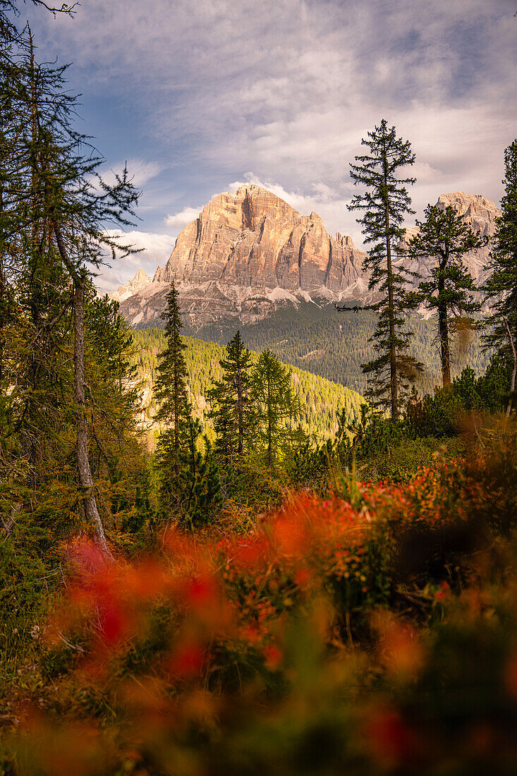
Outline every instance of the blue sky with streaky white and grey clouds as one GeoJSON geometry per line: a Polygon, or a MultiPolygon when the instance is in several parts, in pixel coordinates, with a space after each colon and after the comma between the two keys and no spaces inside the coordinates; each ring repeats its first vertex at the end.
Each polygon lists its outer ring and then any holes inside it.
{"type": "MultiPolygon", "coordinates": [[[[517,0],[81,0],[23,9],[40,61],[70,63],[106,178],[142,191],[113,290],[167,261],[217,193],[255,182],[362,244],[349,163],[385,118],[410,140],[416,217],[442,192],[499,202],[517,134],[517,0]]],[[[411,223],[411,222],[410,222],[411,223]]]]}

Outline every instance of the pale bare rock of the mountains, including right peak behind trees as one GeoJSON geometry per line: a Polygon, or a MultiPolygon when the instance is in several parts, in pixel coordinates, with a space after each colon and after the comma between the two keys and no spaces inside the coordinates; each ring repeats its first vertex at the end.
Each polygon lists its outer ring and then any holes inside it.
{"type": "MultiPolygon", "coordinates": [[[[500,211],[481,195],[442,194],[474,231],[491,237],[500,211]]],[[[408,236],[414,234],[409,227],[408,236]]],[[[402,246],[404,247],[404,242],[402,246]]],[[[489,246],[467,255],[477,282],[484,280],[489,246]]],[[[237,317],[250,323],[283,305],[369,302],[366,254],[350,237],[331,237],[317,213],[303,216],[272,192],[252,184],[214,197],[179,234],[164,268],[150,282],[139,270],[113,298],[135,326],[157,325],[169,284],[179,289],[182,313],[193,325],[237,317]]],[[[423,277],[429,259],[411,269],[423,277]]]]}

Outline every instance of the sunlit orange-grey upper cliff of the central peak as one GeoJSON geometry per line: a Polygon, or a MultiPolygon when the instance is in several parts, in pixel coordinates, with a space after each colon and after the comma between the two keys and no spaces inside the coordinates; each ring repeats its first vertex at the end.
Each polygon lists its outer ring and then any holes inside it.
{"type": "Polygon", "coordinates": [[[214,197],[182,230],[154,282],[342,291],[361,277],[364,256],[350,237],[331,237],[317,213],[302,216],[272,192],[246,184],[214,197]]]}

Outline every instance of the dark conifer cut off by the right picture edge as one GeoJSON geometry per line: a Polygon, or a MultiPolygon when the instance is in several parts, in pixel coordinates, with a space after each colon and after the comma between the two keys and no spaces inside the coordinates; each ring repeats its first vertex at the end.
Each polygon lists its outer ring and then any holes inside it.
{"type": "Polygon", "coordinates": [[[501,199],[501,216],[496,221],[491,275],[484,285],[491,306],[484,341],[488,347],[497,349],[501,359],[512,364],[506,409],[509,415],[515,402],[517,374],[517,139],[505,149],[503,185],[505,195],[501,199]]]}

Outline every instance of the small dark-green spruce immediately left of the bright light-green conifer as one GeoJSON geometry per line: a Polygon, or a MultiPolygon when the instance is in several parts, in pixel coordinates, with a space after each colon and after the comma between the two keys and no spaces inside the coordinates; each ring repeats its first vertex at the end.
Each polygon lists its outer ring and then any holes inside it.
{"type": "Polygon", "coordinates": [[[250,397],[251,354],[238,331],[226,346],[226,358],[220,361],[223,378],[208,392],[212,404],[210,417],[217,435],[217,449],[224,455],[245,452],[245,441],[252,433],[250,397]]]}

